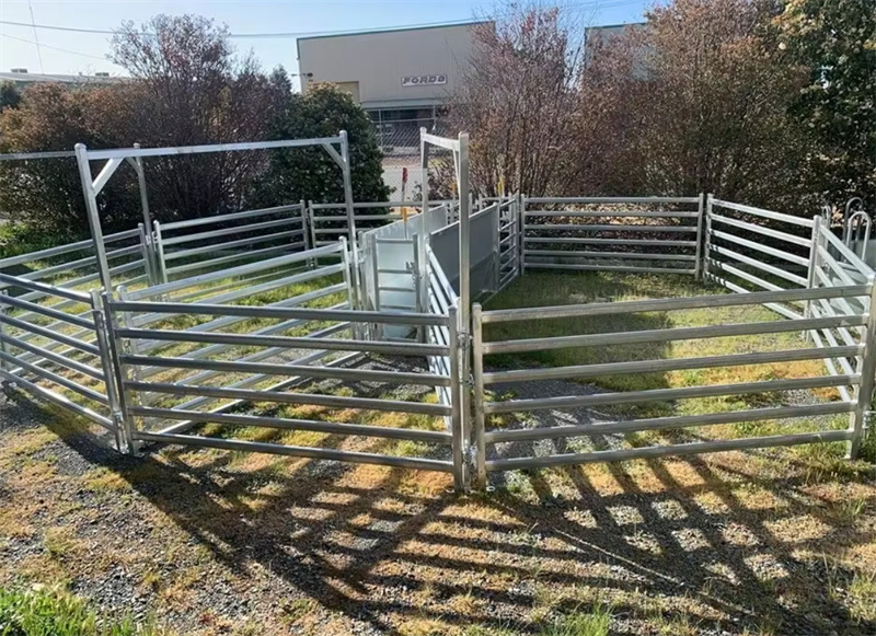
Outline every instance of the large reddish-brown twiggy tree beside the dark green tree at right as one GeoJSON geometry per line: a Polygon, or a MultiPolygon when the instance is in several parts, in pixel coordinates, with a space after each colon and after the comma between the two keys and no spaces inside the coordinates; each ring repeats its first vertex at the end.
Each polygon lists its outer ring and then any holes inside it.
{"type": "Polygon", "coordinates": [[[595,56],[579,113],[607,82],[620,89],[600,107],[624,114],[621,130],[604,129],[620,135],[627,187],[817,209],[804,197],[817,190],[811,141],[786,116],[803,77],[769,36],[772,16],[769,2],[675,0],[595,56]]]}

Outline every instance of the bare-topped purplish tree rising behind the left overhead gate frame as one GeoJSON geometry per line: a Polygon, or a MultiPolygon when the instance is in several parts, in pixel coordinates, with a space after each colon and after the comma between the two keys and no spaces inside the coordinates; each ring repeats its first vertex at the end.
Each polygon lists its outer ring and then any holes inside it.
{"type": "MultiPolygon", "coordinates": [[[[113,36],[112,60],[135,79],[138,107],[120,122],[127,143],[194,146],[258,141],[286,104],[288,80],[266,77],[252,56],[238,58],[224,26],[196,15],[127,22],[113,36]]],[[[155,216],[206,217],[239,209],[264,171],[265,152],[147,160],[155,216]]]]}

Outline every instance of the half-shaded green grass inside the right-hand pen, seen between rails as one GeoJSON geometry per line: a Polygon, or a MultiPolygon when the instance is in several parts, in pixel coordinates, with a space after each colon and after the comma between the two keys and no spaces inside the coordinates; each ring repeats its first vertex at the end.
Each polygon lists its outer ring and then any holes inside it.
{"type": "MultiPolygon", "coordinates": [[[[486,304],[485,309],[509,309],[570,303],[639,300],[724,293],[722,288],[696,284],[691,277],[622,275],[613,273],[528,274],[515,281],[486,304]]],[[[485,325],[486,340],[548,338],[577,334],[620,333],[670,327],[692,327],[714,324],[770,322],[780,319],[759,305],[678,310],[671,312],[641,312],[598,317],[553,319],[542,321],[509,322],[485,325]]],[[[773,351],[808,347],[796,332],[765,336],[734,336],[676,340],[672,343],[644,343],[601,347],[576,347],[537,351],[531,354],[488,356],[486,363],[496,368],[569,367],[619,361],[660,360],[773,351]]],[[[817,360],[803,360],[776,365],[750,365],[711,369],[691,369],[659,373],[612,374],[587,378],[606,391],[647,391],[677,389],[706,384],[735,384],[763,382],[785,378],[807,378],[823,374],[817,360]]],[[[837,396],[832,389],[815,392],[822,400],[837,396]]],[[[624,406],[620,414],[638,417],[665,415],[699,415],[741,408],[774,406],[784,400],[781,393],[729,395],[685,400],[679,403],[653,402],[645,405],[624,406]]],[[[611,412],[611,409],[609,409],[611,412]]],[[[615,410],[615,413],[618,413],[615,410]]]]}

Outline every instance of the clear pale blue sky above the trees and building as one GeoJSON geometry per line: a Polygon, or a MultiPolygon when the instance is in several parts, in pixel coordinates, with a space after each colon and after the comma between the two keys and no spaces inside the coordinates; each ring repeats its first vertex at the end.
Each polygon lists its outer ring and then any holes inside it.
{"type": "MultiPolygon", "coordinates": [[[[544,0],[546,3],[546,0],[544,0]]],[[[653,0],[563,0],[588,25],[638,22],[653,0]]],[[[0,70],[114,76],[106,59],[108,34],[42,28],[112,31],[124,21],[143,23],[158,13],[196,13],[228,25],[240,53],[252,50],[263,68],[298,70],[296,35],[465,21],[502,13],[496,0],[0,0],[0,70]],[[26,26],[5,24],[26,23],[26,26]],[[34,28],[32,24],[36,24],[34,28]],[[257,36],[253,34],[273,34],[257,36]],[[281,35],[277,35],[281,34],[281,35]],[[37,46],[37,43],[39,46],[37,46]]]]}

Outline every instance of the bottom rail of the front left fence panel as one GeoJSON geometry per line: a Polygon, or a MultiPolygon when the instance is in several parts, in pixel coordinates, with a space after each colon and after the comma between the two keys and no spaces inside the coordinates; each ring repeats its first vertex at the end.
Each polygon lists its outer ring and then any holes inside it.
{"type": "Polygon", "coordinates": [[[420,458],[405,458],[397,455],[381,455],[376,453],[364,453],[356,451],[339,451],[334,449],[323,449],[315,447],[292,447],[274,444],[267,442],[255,442],[244,440],[230,440],[214,437],[198,437],[193,435],[171,435],[161,432],[135,431],[135,439],[163,442],[172,444],[184,444],[189,447],[214,448],[230,451],[243,451],[250,453],[268,453],[286,455],[291,458],[306,458],[312,460],[335,460],[338,462],[351,462],[359,464],[378,464],[382,466],[394,466],[399,469],[414,469],[419,471],[439,471],[450,473],[453,465],[441,460],[430,460],[420,458]]]}

